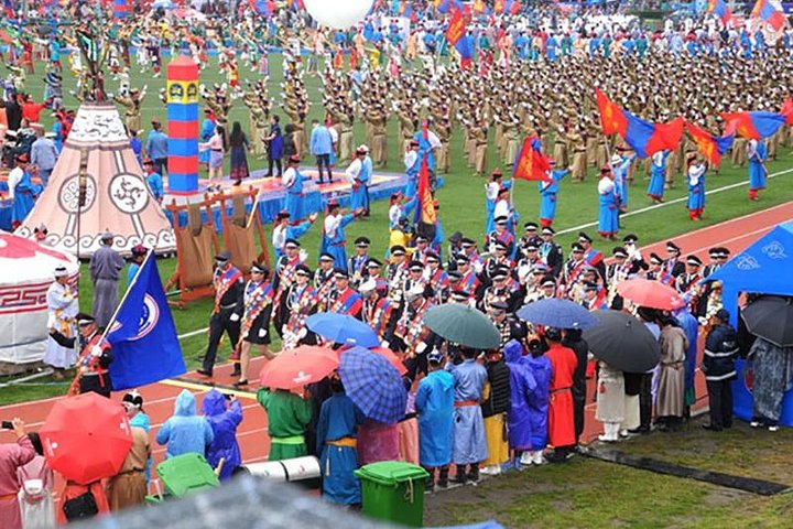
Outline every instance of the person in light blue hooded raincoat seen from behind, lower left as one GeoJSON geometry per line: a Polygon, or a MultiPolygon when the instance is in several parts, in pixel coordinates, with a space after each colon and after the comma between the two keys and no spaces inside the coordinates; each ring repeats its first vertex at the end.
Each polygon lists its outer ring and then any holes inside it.
{"type": "Polygon", "coordinates": [[[196,414],[195,396],[183,389],[174,402],[174,414],[157,432],[157,444],[165,444],[165,458],[195,452],[206,455],[215,440],[209,421],[196,414]]]}

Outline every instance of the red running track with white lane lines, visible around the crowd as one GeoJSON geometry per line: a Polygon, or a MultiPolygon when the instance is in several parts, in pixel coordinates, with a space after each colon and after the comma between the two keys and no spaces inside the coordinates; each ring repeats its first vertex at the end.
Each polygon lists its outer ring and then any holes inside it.
{"type": "MultiPolygon", "coordinates": [[[[732,251],[732,255],[736,255],[765,235],[778,224],[792,218],[793,203],[787,203],[673,237],[672,240],[681,247],[684,256],[694,253],[707,262],[707,250],[710,247],[726,246],[732,251]]],[[[651,251],[664,256],[665,241],[642,248],[642,253],[645,257],[649,256],[651,251]]],[[[254,358],[251,361],[251,374],[258,374],[264,361],[263,358],[254,358]]],[[[198,376],[195,371],[192,371],[181,380],[154,384],[140,389],[144,399],[143,406],[145,412],[149,414],[152,424],[152,449],[155,464],[162,461],[164,447],[157,446],[153,439],[161,424],[173,413],[174,399],[182,389],[184,389],[183,386],[185,386],[182,380],[187,382],[186,386],[196,393],[198,409],[200,410],[202,396],[210,389],[210,384],[217,384],[218,389],[221,391],[224,389],[231,389],[230,385],[235,379],[230,374],[231,365],[219,365],[215,369],[214,380],[207,380],[198,376]],[[196,386],[196,384],[200,386],[196,386]]],[[[594,381],[590,381],[589,386],[587,395],[594,396],[594,381]]],[[[258,389],[258,385],[254,382],[247,388],[248,391],[238,393],[242,399],[245,410],[245,420],[238,430],[238,440],[245,463],[265,461],[270,450],[270,440],[267,435],[267,414],[256,401],[256,389],[258,389]]],[[[120,401],[121,395],[113,395],[113,399],[120,401]]],[[[57,399],[0,407],[0,418],[10,420],[11,418],[20,417],[25,421],[31,431],[36,431],[43,424],[55,400],[57,399]]],[[[705,381],[700,374],[697,374],[697,400],[698,407],[703,407],[707,400],[705,381]]],[[[587,441],[591,441],[600,432],[600,423],[595,420],[595,404],[589,403],[587,404],[587,421],[584,436],[587,441]]],[[[12,441],[13,434],[11,432],[0,432],[0,442],[12,441]]]]}

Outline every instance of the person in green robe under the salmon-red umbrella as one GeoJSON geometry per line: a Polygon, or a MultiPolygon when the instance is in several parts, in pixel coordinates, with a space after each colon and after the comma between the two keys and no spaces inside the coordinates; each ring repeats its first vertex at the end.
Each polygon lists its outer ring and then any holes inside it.
{"type": "Polygon", "coordinates": [[[268,414],[269,461],[290,460],[308,454],[305,429],[312,420],[311,400],[285,389],[260,388],[257,400],[268,414]]]}

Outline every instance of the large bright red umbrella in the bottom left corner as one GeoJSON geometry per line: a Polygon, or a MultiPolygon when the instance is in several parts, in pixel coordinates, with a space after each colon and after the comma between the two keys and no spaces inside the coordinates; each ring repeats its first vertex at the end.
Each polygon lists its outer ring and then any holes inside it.
{"type": "Polygon", "coordinates": [[[50,467],[83,485],[118,474],[132,446],[124,409],[93,392],[55,402],[39,434],[50,467]]]}

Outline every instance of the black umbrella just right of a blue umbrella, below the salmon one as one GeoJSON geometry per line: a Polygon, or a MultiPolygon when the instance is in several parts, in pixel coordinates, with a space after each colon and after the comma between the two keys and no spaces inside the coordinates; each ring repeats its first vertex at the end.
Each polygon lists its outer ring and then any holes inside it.
{"type": "Polygon", "coordinates": [[[584,331],[595,356],[627,373],[652,369],[661,357],[655,336],[636,317],[620,311],[595,311],[598,325],[584,331]]]}

